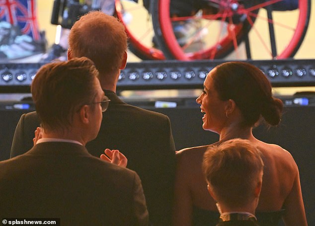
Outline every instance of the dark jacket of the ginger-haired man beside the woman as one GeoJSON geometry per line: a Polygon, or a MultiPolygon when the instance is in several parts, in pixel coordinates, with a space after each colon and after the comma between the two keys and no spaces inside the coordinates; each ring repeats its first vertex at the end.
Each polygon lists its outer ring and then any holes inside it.
{"type": "MultiPolygon", "coordinates": [[[[87,143],[87,150],[99,157],[105,148],[117,149],[128,158],[129,169],[141,178],[150,222],[170,223],[175,174],[175,146],[169,118],[123,102],[104,90],[110,104],[103,113],[97,138],[87,143]]],[[[39,126],[35,112],[23,114],[17,124],[11,157],[24,153],[32,146],[34,131],[39,126]]]]}

